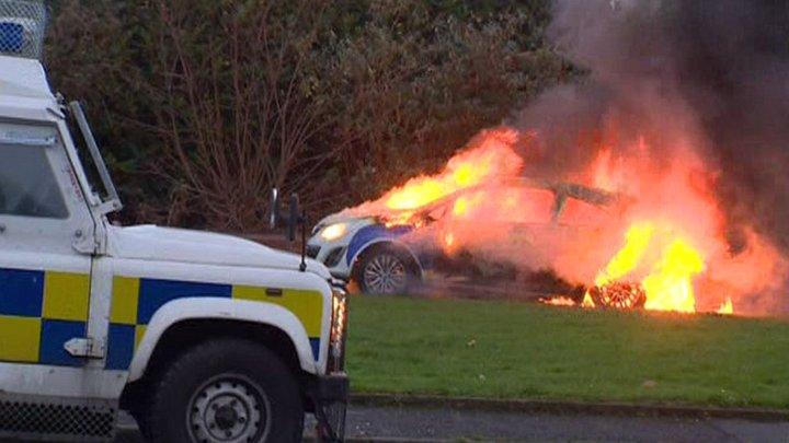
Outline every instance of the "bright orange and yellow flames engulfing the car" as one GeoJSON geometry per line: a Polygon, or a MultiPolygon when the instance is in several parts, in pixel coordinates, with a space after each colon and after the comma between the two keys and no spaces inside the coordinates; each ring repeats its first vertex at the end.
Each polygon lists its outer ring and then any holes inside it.
{"type": "Polygon", "coordinates": [[[622,295],[617,288],[630,288],[639,303],[621,307],[711,311],[719,300],[710,304],[710,299],[723,292],[731,298],[719,312],[733,313],[734,304],[753,305],[741,298],[778,289],[789,265],[753,226],[742,226],[746,246],[732,253],[725,211],[711,188],[722,172],[702,161],[693,138],[661,132],[628,139],[616,121],[607,125],[595,145],[583,147],[593,154],[580,171],[537,175],[549,185],[522,176],[522,154],[530,148],[545,154],[550,147],[539,145],[534,132],[498,127],[478,135],[437,174],[414,177],[348,211],[378,215],[387,226],[411,225],[411,241],[449,255],[468,250],[518,268],[552,269],[568,282],[591,287],[583,307],[597,307],[596,300],[606,304],[599,293],[622,295]],[[556,184],[605,191],[615,202],[573,197],[559,203],[556,184]],[[568,226],[586,230],[549,232],[568,226]],[[594,291],[599,288],[608,290],[594,291]]]}

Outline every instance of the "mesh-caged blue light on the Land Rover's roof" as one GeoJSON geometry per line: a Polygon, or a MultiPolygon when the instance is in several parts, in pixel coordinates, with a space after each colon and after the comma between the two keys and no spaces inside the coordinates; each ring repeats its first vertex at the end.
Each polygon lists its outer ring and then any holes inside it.
{"type": "Polygon", "coordinates": [[[42,60],[47,15],[44,0],[0,0],[0,56],[42,60]]]}

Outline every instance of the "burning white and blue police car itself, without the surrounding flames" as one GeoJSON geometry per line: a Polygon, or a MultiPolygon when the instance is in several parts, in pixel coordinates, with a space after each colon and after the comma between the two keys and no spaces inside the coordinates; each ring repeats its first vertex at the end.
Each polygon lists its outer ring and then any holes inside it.
{"type": "MultiPolygon", "coordinates": [[[[482,241],[482,232],[504,232],[518,254],[527,257],[557,237],[583,237],[590,230],[610,225],[624,205],[622,196],[579,184],[508,179],[495,187],[470,186],[414,210],[377,214],[345,210],[329,215],[315,226],[307,252],[334,277],[356,281],[365,293],[402,294],[425,270],[447,263],[456,252],[456,232],[476,230],[482,241]],[[473,217],[471,208],[485,210],[485,201],[502,201],[512,210],[473,217]]],[[[601,305],[642,303],[637,289],[592,294],[601,305]]]]}

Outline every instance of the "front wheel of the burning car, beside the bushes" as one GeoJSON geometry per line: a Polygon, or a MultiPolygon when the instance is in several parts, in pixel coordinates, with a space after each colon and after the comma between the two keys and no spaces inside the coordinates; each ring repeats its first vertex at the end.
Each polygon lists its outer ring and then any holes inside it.
{"type": "Polygon", "coordinates": [[[373,246],[356,263],[354,280],[366,294],[403,295],[419,280],[419,268],[396,246],[373,246]]]}

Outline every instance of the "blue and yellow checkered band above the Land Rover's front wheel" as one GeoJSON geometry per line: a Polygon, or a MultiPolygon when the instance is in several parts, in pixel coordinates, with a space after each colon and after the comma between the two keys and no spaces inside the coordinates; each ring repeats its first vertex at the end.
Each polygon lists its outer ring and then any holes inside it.
{"type": "Polygon", "coordinates": [[[128,369],[148,323],[160,307],[178,299],[202,296],[266,302],[289,310],[305,326],[318,360],[323,317],[323,295],[318,291],[115,277],[106,369],[128,369]]]}

